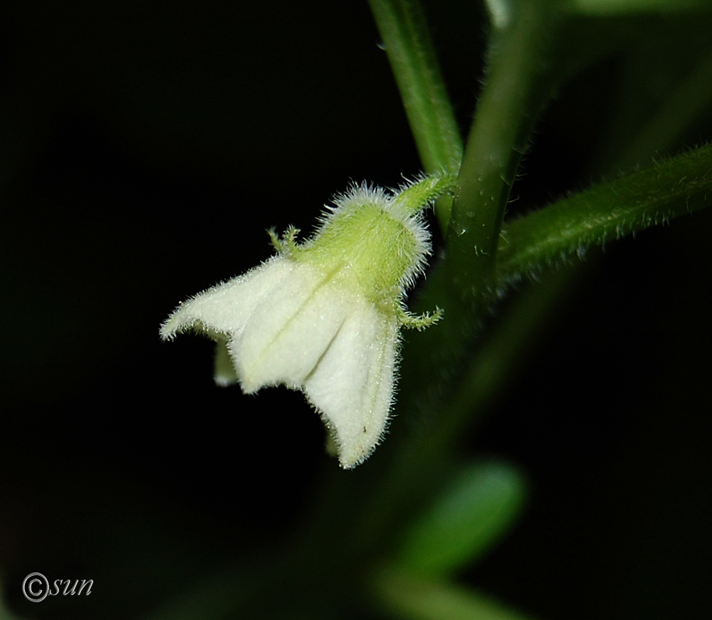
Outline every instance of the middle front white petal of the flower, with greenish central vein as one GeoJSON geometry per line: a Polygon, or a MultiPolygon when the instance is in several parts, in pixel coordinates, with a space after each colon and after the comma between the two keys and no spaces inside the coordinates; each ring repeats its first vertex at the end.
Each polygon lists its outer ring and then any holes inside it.
{"type": "Polygon", "coordinates": [[[298,389],[313,371],[350,312],[351,296],[310,265],[255,308],[241,337],[229,342],[242,389],[286,384],[298,389]]]}

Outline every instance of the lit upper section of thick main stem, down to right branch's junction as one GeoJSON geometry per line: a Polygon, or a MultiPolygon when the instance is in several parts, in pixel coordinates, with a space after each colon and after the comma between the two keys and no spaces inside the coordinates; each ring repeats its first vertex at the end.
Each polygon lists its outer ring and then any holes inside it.
{"type": "Polygon", "coordinates": [[[468,137],[447,243],[454,288],[481,293],[491,280],[511,185],[528,137],[553,90],[559,12],[518,3],[494,31],[490,64],[468,137]]]}

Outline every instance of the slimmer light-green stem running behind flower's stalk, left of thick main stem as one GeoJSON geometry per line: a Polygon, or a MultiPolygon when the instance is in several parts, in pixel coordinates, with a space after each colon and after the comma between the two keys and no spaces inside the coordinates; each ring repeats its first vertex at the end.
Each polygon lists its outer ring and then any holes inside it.
{"type": "MultiPolygon", "coordinates": [[[[369,0],[425,172],[456,174],[462,140],[417,0],[369,0]]],[[[445,231],[451,199],[438,202],[445,231]]]]}

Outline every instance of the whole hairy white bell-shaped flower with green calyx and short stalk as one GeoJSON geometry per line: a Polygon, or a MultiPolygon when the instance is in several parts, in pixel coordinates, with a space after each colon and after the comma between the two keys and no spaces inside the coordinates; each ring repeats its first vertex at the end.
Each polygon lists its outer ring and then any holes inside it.
{"type": "Polygon", "coordinates": [[[400,327],[439,319],[439,310],[416,317],[403,304],[430,253],[422,208],[453,184],[439,175],[397,192],[352,188],[307,241],[295,242],[295,228],[281,239],[271,232],[275,256],[179,305],[162,338],[195,330],[215,340],[219,385],[301,390],[341,466],[355,467],[388,424],[400,327]]]}

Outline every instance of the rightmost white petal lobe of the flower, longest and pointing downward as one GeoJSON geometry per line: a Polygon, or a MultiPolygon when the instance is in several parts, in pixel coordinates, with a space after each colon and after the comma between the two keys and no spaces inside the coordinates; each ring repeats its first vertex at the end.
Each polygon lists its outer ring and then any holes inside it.
{"type": "Polygon", "coordinates": [[[308,399],[335,433],[345,469],[365,461],[383,436],[393,399],[397,341],[397,321],[359,300],[304,382],[308,399]]]}

